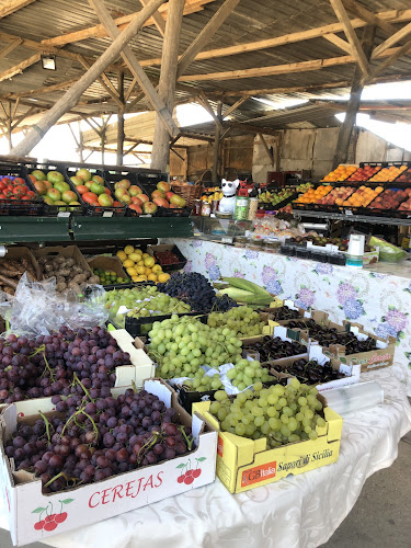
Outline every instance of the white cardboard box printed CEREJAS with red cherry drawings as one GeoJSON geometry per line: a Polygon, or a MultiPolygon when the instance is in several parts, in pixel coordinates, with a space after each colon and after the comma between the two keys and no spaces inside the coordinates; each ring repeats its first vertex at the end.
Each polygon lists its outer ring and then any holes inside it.
{"type": "Polygon", "coordinates": [[[181,422],[192,427],[195,450],[189,455],[152,466],[110,477],[103,481],[79,486],[76,489],[53,494],[42,493],[42,482],[32,473],[14,471],[13,461],[5,457],[3,439],[15,430],[18,421],[37,419],[35,407],[22,401],[8,406],[0,415],[0,478],[1,494],[9,509],[9,525],[14,546],[42,541],[48,536],[66,533],[114,515],[124,514],[152,502],[183,493],[215,480],[217,432],[194,414],[191,418],[179,406],[176,395],[161,379],[146,380],[145,389],[156,393],[165,406],[173,407],[181,422]],[[202,473],[191,484],[178,482],[186,466],[201,468],[202,473]],[[36,530],[35,524],[46,514],[67,513],[64,523],[53,532],[36,530]]]}

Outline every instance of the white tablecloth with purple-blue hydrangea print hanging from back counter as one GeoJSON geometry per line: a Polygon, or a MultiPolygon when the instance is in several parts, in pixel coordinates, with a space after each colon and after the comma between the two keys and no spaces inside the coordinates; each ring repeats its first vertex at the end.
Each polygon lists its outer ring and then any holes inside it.
{"type": "Polygon", "coordinates": [[[397,340],[392,370],[411,395],[411,266],[389,263],[350,269],[197,239],[173,239],[187,263],[212,281],[237,276],[264,286],[304,309],[324,310],[339,323],[364,324],[367,331],[397,340]]]}

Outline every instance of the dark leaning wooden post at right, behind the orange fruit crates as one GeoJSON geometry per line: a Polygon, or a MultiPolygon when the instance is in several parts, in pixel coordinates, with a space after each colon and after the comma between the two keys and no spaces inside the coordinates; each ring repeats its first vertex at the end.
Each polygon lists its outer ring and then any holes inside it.
{"type": "MultiPolygon", "coordinates": [[[[362,46],[367,60],[370,57],[374,44],[375,26],[366,26],[363,34],[362,46]]],[[[355,67],[353,83],[350,92],[350,100],[345,111],[345,119],[340,127],[339,139],[335,147],[333,168],[344,163],[349,156],[349,146],[356,115],[359,107],[361,95],[364,84],[362,83],[362,69],[358,65],[355,67]]]]}

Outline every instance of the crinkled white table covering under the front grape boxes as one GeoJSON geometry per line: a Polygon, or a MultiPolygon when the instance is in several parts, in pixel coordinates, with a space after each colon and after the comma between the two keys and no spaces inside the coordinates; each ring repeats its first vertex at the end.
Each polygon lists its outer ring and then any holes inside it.
{"type": "MultiPolygon", "coordinates": [[[[231,495],[213,484],[105,522],[47,538],[58,548],[313,548],[349,514],[365,480],[389,467],[411,429],[411,407],[392,368],[363,375],[384,404],[344,419],[339,461],[231,495]]],[[[8,528],[4,507],[0,527],[8,528]]]]}

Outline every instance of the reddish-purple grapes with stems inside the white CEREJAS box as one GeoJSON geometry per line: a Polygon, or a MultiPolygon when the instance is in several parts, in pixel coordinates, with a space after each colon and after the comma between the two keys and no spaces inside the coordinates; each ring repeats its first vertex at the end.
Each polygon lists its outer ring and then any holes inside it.
{"type": "Polygon", "coordinates": [[[58,415],[20,423],[5,444],[19,470],[41,478],[43,492],[72,489],[110,476],[172,459],[191,450],[193,438],[179,415],[146,390],[113,398],[109,387],[54,396],[58,415]],[[81,393],[82,392],[82,393],[81,393]]]}

